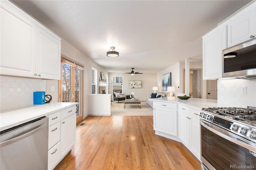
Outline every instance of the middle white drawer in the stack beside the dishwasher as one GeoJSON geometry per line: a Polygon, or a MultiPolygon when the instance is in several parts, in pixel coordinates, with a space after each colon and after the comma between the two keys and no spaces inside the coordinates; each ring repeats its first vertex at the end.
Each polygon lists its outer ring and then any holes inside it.
{"type": "Polygon", "coordinates": [[[48,130],[48,150],[54,146],[54,144],[60,141],[60,122],[49,127],[48,130]]]}

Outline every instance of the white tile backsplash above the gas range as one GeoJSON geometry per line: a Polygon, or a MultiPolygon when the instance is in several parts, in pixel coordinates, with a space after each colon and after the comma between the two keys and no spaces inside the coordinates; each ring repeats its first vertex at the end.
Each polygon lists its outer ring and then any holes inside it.
{"type": "Polygon", "coordinates": [[[256,81],[245,79],[218,80],[218,104],[228,107],[256,107],[256,81]],[[246,86],[246,94],[242,87],[246,86]]]}

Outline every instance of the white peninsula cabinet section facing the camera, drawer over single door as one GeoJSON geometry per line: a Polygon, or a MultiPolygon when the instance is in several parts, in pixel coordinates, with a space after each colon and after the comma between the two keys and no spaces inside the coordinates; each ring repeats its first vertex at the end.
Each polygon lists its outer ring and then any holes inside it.
{"type": "Polygon", "coordinates": [[[154,130],[177,136],[177,103],[154,101],[154,130]]]}

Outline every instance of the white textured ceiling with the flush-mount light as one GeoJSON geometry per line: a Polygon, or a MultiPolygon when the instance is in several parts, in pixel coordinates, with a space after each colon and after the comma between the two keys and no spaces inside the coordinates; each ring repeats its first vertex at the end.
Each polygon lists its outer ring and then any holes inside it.
{"type": "Polygon", "coordinates": [[[13,2],[106,71],[144,73],[202,59],[202,36],[250,0],[13,2]]]}

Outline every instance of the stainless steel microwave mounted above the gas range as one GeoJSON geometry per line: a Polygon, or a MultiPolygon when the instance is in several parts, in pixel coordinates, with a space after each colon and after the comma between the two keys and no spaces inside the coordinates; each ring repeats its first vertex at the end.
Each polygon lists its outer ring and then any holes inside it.
{"type": "Polygon", "coordinates": [[[222,77],[256,78],[256,38],[222,50],[222,77]]]}

